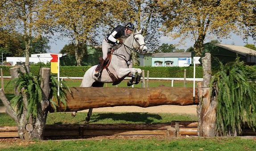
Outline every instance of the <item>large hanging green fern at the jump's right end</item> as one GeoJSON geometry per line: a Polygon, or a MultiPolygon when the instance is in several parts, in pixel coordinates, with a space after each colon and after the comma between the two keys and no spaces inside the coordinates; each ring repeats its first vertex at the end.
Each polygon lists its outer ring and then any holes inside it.
{"type": "Polygon", "coordinates": [[[223,65],[211,78],[210,87],[217,90],[217,135],[240,135],[247,122],[256,128],[256,69],[239,58],[223,65]],[[243,124],[244,123],[244,124],[243,124]]]}

